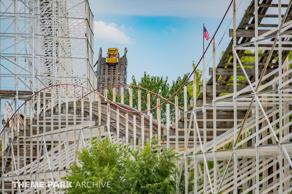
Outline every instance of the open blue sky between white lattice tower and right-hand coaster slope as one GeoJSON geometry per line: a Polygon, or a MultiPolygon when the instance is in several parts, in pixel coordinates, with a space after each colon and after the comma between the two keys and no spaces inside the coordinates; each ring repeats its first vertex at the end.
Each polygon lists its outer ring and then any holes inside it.
{"type": "MultiPolygon", "coordinates": [[[[168,76],[169,82],[192,71],[203,53],[203,23],[213,36],[230,0],[89,0],[94,15],[94,53],[99,48],[105,57],[107,48],[119,48],[120,55],[128,49],[128,83],[132,75],[140,80],[144,71],[150,76],[168,76]]],[[[237,25],[249,0],[237,0],[237,25]],[[240,6],[239,6],[240,4],[240,6]]],[[[232,7],[215,36],[216,46],[230,21],[232,7]]],[[[228,29],[232,28],[232,22],[228,29]]],[[[209,39],[210,41],[211,39],[209,39]]],[[[228,30],[216,53],[216,63],[231,38],[228,30]]],[[[205,48],[209,41],[205,40],[205,48]]],[[[205,55],[208,64],[212,56],[205,55]]],[[[208,67],[212,66],[210,62],[208,67]]],[[[202,62],[199,65],[202,69],[202,62]]],[[[207,71],[208,72],[208,71],[207,71]]],[[[207,73],[208,74],[208,73],[207,73]]]]}

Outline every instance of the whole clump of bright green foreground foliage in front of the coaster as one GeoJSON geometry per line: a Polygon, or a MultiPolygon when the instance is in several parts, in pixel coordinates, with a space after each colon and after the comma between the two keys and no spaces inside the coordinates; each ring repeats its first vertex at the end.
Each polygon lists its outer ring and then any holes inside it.
{"type": "MultiPolygon", "coordinates": [[[[69,194],[146,194],[175,193],[175,153],[149,142],[138,151],[128,150],[122,144],[92,141],[89,150],[77,153],[80,166],[75,162],[65,181],[72,188],[62,188],[69,194]],[[110,182],[110,187],[79,187],[78,182],[110,182]]],[[[91,183],[92,184],[92,183],[91,183]]],[[[90,183],[88,184],[90,185],[90,183]]]]}

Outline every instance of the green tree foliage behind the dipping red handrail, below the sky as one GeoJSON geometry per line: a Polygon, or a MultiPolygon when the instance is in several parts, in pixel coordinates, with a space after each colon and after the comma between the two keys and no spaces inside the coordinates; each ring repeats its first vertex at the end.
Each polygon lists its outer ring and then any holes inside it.
{"type": "MultiPolygon", "coordinates": [[[[195,67],[195,64],[192,64],[195,67]]],[[[200,85],[201,85],[201,78],[202,78],[203,71],[200,69],[196,69],[196,97],[200,95],[200,85]]],[[[140,81],[137,81],[135,76],[132,76],[131,85],[139,86],[150,90],[165,99],[170,98],[182,85],[185,83],[187,78],[190,76],[190,73],[185,74],[183,77],[178,77],[175,81],[172,81],[171,85],[168,83],[168,77],[163,78],[162,76],[150,76],[146,72],[144,72],[144,76],[141,77],[140,81]]],[[[185,83],[187,86],[187,105],[188,108],[190,99],[193,98],[193,77],[190,78],[185,83]],[[190,81],[191,80],[191,81],[190,81]]],[[[109,100],[112,100],[112,89],[107,89],[107,96],[109,100]]],[[[133,107],[138,109],[138,88],[133,87],[133,107]]],[[[141,89],[141,110],[147,110],[147,91],[141,89]]],[[[124,104],[129,105],[129,87],[126,88],[126,94],[124,95],[124,104]]],[[[170,99],[171,102],[175,103],[175,96],[170,99]]],[[[121,102],[121,96],[119,94],[116,95],[116,102],[121,102]]],[[[165,102],[164,99],[160,99],[160,104],[165,102]]],[[[150,93],[150,107],[157,106],[157,96],[150,93]]],[[[183,88],[178,91],[178,106],[184,108],[184,90],[183,88]]],[[[166,124],[166,103],[161,106],[161,121],[166,124]]],[[[157,109],[150,111],[153,115],[153,118],[157,118],[157,109]]],[[[174,120],[175,118],[175,107],[171,104],[170,105],[170,118],[174,120]]]]}

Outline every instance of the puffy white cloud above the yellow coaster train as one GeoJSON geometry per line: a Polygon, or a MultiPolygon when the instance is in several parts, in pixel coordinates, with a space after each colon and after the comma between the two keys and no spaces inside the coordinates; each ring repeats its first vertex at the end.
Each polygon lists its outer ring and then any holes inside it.
{"type": "MultiPolygon", "coordinates": [[[[117,28],[115,23],[106,23],[103,21],[93,21],[94,37],[107,42],[130,44],[132,39],[117,28]]],[[[121,29],[125,26],[122,25],[121,29]]]]}

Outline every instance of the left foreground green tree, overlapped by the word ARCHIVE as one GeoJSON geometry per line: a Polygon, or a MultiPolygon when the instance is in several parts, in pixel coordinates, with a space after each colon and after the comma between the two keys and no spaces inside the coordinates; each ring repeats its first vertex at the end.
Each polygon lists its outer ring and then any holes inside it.
{"type": "MultiPolygon", "coordinates": [[[[65,181],[72,181],[72,188],[64,188],[69,194],[92,194],[92,193],[124,193],[125,188],[129,188],[128,182],[123,181],[126,169],[130,165],[130,154],[121,149],[122,146],[112,144],[109,139],[104,141],[92,141],[89,150],[83,149],[77,152],[77,158],[81,164],[76,162],[70,165],[71,172],[65,181]],[[119,151],[117,151],[119,149],[119,151]],[[107,187],[80,187],[84,182],[110,181],[110,188],[107,187]]],[[[92,185],[88,185],[92,186],[92,185]]]]}

